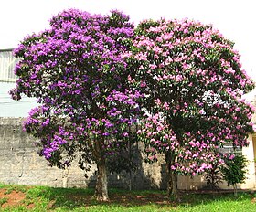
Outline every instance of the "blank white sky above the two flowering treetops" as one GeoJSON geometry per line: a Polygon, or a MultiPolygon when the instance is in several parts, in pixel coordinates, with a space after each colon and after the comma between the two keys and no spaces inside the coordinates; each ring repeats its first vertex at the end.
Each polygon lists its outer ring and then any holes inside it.
{"type": "Polygon", "coordinates": [[[119,9],[135,23],[145,18],[188,17],[213,24],[234,41],[243,68],[256,80],[255,5],[255,0],[2,0],[0,49],[16,48],[23,37],[48,28],[50,17],[67,8],[101,14],[119,9]]]}

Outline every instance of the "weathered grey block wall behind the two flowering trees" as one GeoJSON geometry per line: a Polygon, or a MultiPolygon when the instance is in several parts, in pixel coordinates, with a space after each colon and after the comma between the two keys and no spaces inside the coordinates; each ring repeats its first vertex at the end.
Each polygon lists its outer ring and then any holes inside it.
{"type": "MultiPolygon", "coordinates": [[[[35,138],[22,131],[21,118],[0,118],[0,182],[17,185],[48,185],[58,187],[94,186],[95,166],[84,177],[76,164],[67,170],[48,166],[38,156],[35,138]]],[[[141,146],[137,146],[141,148],[141,146]]],[[[109,174],[109,186],[132,189],[165,188],[164,160],[160,164],[145,164],[138,154],[135,173],[109,174]]]]}

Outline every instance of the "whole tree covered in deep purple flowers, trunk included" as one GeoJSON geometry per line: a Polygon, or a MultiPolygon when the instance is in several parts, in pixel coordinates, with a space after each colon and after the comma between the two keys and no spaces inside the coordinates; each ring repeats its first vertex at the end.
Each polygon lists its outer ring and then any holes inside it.
{"type": "Polygon", "coordinates": [[[14,51],[21,61],[10,93],[15,100],[25,94],[40,104],[24,123],[40,138],[39,154],[61,168],[75,156],[85,169],[95,162],[99,200],[108,200],[106,158],[125,147],[141,97],[127,87],[123,52],[133,37],[128,21],[117,11],[101,16],[69,9],[14,51]]]}

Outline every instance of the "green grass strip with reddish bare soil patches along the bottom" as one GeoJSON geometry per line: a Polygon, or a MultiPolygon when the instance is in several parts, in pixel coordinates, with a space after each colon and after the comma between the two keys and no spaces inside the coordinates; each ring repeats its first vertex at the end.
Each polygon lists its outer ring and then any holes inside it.
{"type": "Polygon", "coordinates": [[[92,200],[92,189],[0,185],[0,211],[256,211],[256,194],[182,193],[169,201],[163,191],[110,189],[111,201],[92,200]]]}

